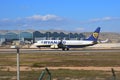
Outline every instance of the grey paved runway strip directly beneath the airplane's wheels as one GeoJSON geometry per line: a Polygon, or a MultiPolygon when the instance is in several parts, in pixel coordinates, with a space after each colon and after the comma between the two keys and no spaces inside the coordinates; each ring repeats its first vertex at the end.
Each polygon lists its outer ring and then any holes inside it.
{"type": "MultiPolygon", "coordinates": [[[[99,53],[109,53],[109,52],[118,52],[120,53],[120,49],[81,49],[81,50],[69,50],[69,51],[62,51],[60,49],[58,50],[52,50],[52,49],[44,49],[44,50],[39,50],[39,49],[20,49],[20,53],[74,53],[74,52],[83,52],[83,53],[88,53],[88,52],[99,52],[99,53]]],[[[0,53],[17,53],[16,49],[0,49],[0,53]]]]}

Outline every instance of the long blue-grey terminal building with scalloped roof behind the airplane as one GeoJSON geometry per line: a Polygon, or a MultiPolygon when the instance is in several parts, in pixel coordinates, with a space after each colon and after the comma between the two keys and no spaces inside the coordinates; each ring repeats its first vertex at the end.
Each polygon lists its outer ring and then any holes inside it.
{"type": "Polygon", "coordinates": [[[85,35],[82,33],[64,33],[64,32],[42,32],[42,31],[33,31],[33,30],[1,30],[0,31],[0,44],[10,44],[13,41],[23,41],[34,43],[38,40],[58,40],[58,39],[83,39],[85,35]]]}

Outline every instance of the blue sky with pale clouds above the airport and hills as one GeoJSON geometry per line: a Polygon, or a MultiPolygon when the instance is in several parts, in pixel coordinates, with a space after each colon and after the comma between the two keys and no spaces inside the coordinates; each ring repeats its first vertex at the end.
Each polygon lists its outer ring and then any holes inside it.
{"type": "Polygon", "coordinates": [[[0,30],[120,32],[120,0],[0,0],[0,30]]]}

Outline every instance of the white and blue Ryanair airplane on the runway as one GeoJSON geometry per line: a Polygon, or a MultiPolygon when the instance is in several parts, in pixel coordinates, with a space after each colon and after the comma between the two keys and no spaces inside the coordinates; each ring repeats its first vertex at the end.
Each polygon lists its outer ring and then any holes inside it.
{"type": "Polygon", "coordinates": [[[100,27],[98,27],[87,39],[84,40],[39,40],[34,45],[40,47],[50,47],[51,49],[69,50],[70,48],[83,48],[86,46],[92,46],[98,43],[98,37],[100,33],[100,27]]]}

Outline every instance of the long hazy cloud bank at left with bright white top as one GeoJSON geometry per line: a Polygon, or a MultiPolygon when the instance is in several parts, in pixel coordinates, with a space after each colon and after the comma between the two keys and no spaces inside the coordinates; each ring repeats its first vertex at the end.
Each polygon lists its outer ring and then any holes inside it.
{"type": "Polygon", "coordinates": [[[35,29],[44,28],[54,28],[67,25],[69,21],[63,17],[59,17],[56,15],[33,15],[24,18],[16,18],[16,19],[0,19],[0,28],[6,29],[16,29],[17,27],[24,27],[24,29],[29,29],[34,27],[35,29]]]}

